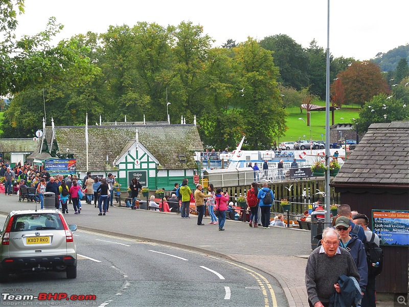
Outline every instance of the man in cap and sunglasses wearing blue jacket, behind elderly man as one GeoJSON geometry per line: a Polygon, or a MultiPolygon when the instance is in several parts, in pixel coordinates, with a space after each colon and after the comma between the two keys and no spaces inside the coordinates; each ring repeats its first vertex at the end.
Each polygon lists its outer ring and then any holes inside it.
{"type": "Polygon", "coordinates": [[[354,259],[360,277],[359,287],[362,295],[365,295],[368,283],[368,264],[365,248],[358,236],[350,233],[351,226],[348,217],[338,216],[335,222],[335,230],[339,234],[339,245],[349,251],[352,259],[354,259]]]}

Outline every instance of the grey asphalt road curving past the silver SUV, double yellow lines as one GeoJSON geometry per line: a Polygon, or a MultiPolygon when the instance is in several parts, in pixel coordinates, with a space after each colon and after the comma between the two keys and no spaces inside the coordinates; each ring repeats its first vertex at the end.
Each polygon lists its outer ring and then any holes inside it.
{"type": "MultiPolygon", "coordinates": [[[[1,225],[4,221],[0,216],[1,225]]],[[[76,279],[54,272],[16,275],[2,285],[2,293],[95,295],[87,303],[96,306],[287,305],[274,278],[233,261],[121,236],[85,230],[74,234],[76,279]]]]}

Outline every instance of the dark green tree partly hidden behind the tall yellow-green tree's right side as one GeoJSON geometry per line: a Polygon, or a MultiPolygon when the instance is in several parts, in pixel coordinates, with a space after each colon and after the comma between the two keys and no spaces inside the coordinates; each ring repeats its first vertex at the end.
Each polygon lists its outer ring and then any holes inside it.
{"type": "Polygon", "coordinates": [[[279,34],[264,37],[260,45],[274,51],[274,64],[280,69],[279,82],[296,90],[308,85],[308,55],[299,43],[285,34],[279,34]]]}

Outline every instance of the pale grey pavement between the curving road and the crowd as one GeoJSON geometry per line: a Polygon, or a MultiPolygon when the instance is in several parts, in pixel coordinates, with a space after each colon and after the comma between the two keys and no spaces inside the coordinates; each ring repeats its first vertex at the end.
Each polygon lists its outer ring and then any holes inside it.
{"type": "MultiPolygon", "coordinates": [[[[94,205],[82,203],[81,214],[73,214],[72,206],[68,206],[67,223],[77,224],[83,230],[196,250],[240,262],[276,278],[290,307],[308,306],[304,275],[311,253],[309,230],[251,228],[248,223],[227,220],[225,231],[218,231],[217,225],[208,225],[210,217],[203,217],[205,225],[198,226],[196,215],[180,218],[177,213],[124,207],[110,207],[105,216],[99,216],[94,205]]],[[[115,200],[113,204],[116,205],[115,200]]],[[[18,202],[17,195],[0,194],[0,213],[34,208],[34,202],[18,202]]]]}

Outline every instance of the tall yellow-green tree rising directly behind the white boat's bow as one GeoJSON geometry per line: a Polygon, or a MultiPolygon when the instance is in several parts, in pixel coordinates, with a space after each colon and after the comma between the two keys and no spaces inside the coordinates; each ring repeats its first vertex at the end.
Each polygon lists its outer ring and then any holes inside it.
{"type": "Polygon", "coordinates": [[[271,52],[252,38],[234,49],[233,68],[244,86],[240,107],[243,132],[253,149],[271,148],[285,131],[286,112],[277,84],[278,69],[271,52]]]}

